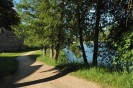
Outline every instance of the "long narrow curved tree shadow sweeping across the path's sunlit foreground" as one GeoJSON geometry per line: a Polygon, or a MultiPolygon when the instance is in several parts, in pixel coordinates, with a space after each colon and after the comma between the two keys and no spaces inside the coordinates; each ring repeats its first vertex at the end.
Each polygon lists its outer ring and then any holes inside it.
{"type": "Polygon", "coordinates": [[[58,78],[61,78],[71,72],[74,72],[76,70],[79,69],[79,67],[77,65],[69,65],[66,67],[67,65],[64,65],[64,66],[56,66],[54,68],[51,68],[49,70],[46,70],[46,71],[42,71],[40,73],[43,73],[43,72],[50,72],[50,71],[54,71],[56,70],[55,72],[53,73],[56,73],[55,75],[53,76],[50,76],[50,77],[47,77],[47,78],[42,78],[42,79],[38,79],[38,80],[34,80],[34,81],[29,81],[29,82],[23,82],[23,83],[17,83],[17,84],[13,84],[12,85],[12,88],[14,87],[24,87],[24,86],[30,86],[30,85],[34,85],[34,84],[38,84],[38,83],[44,83],[44,82],[48,82],[48,81],[52,81],[52,80],[55,80],[55,79],[58,79],[58,78]]]}

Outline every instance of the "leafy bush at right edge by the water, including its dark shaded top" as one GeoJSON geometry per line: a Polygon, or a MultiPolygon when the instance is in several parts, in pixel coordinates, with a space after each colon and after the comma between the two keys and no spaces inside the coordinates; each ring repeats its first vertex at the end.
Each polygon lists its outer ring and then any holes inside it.
{"type": "Polygon", "coordinates": [[[116,56],[113,61],[113,64],[117,66],[119,65],[118,67],[120,67],[121,70],[128,71],[129,73],[133,70],[132,29],[132,26],[128,25],[126,27],[126,25],[123,25],[123,23],[113,26],[110,30],[110,35],[108,38],[108,41],[110,43],[109,47],[114,49],[114,53],[116,56]],[[114,33],[114,35],[112,35],[112,33],[114,33]]]}

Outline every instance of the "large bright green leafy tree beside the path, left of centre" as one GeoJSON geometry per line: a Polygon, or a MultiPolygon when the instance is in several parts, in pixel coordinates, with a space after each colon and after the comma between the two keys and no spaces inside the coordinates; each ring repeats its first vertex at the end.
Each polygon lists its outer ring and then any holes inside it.
{"type": "Polygon", "coordinates": [[[31,39],[35,39],[36,42],[33,41],[32,45],[35,44],[44,48],[45,46],[51,47],[52,52],[53,49],[55,50],[54,58],[56,60],[60,47],[63,46],[65,36],[63,30],[63,4],[64,1],[60,0],[25,0],[17,5],[20,13],[23,13],[21,16],[24,19],[22,25],[27,28],[24,30],[27,35],[25,44],[30,45],[31,39]]]}

